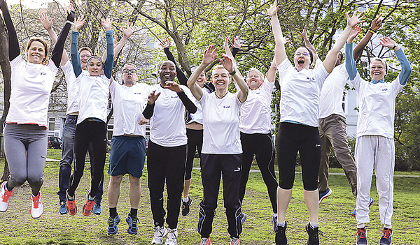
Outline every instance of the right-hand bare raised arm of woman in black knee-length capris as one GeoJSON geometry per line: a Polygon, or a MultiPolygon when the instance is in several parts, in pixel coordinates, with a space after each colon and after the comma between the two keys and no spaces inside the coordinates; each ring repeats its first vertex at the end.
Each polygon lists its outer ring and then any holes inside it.
{"type": "MultiPolygon", "coordinates": [[[[354,11],[353,15],[349,17],[349,15],[346,14],[347,19],[347,26],[344,28],[344,31],[341,35],[339,35],[339,38],[334,44],[334,47],[328,52],[327,56],[325,57],[325,60],[323,61],[323,66],[325,67],[325,70],[327,70],[328,73],[332,72],[332,69],[335,67],[335,63],[337,62],[337,56],[339,50],[342,49],[344,43],[346,43],[347,38],[350,35],[351,29],[356,26],[356,24],[359,24],[361,22],[364,22],[362,16],[363,13],[359,13],[358,11],[354,11]]],[[[348,57],[346,56],[346,59],[348,57]]]]}

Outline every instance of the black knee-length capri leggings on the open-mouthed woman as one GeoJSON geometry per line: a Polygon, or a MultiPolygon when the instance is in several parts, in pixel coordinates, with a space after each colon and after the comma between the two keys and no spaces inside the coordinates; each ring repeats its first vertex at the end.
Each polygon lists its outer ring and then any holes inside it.
{"type": "Polygon", "coordinates": [[[318,170],[321,160],[321,140],[318,128],[302,124],[282,122],[277,133],[277,159],[279,162],[279,186],[290,190],[295,181],[297,151],[302,165],[303,188],[318,188],[318,170]]]}

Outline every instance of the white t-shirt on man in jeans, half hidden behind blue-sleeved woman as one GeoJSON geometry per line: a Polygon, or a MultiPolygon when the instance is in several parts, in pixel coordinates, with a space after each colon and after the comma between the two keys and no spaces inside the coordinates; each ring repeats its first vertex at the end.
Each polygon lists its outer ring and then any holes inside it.
{"type": "MultiPolygon", "coordinates": [[[[78,84],[76,82],[76,75],[74,75],[73,66],[71,61],[67,61],[64,66],[61,66],[64,75],[66,76],[67,84],[67,112],[66,114],[71,114],[78,112],[78,84]]],[[[82,70],[82,73],[87,73],[87,70],[82,70]]]]}

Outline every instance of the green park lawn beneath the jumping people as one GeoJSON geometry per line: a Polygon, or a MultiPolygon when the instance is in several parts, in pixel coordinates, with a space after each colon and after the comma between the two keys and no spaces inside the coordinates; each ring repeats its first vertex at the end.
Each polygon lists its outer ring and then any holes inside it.
{"type": "MultiPolygon", "coordinates": [[[[48,158],[61,158],[59,152],[48,150],[48,158]],[[52,156],[56,157],[52,157],[52,156]]],[[[195,167],[199,166],[196,159],[195,167]]],[[[147,169],[141,178],[143,193],[139,207],[139,234],[128,235],[125,217],[130,211],[128,200],[128,179],[125,177],[121,186],[118,213],[121,223],[118,225],[118,234],[106,234],[107,219],[109,216],[106,202],[106,186],[109,175],[106,173],[108,163],[105,165],[105,190],[102,202],[102,214],[89,217],[83,216],[81,210],[85,202],[85,192],[90,186],[88,164],[85,166],[85,175],[76,191],[78,213],[76,216],[60,215],[58,213],[57,177],[59,162],[45,164],[43,193],[44,214],[41,218],[31,218],[29,213],[29,186],[24,184],[15,188],[10,198],[9,209],[0,213],[0,244],[150,244],[153,237],[153,218],[151,215],[150,199],[147,188],[147,169]]],[[[3,169],[3,161],[0,163],[3,169]]],[[[300,171],[297,168],[297,171],[300,171]]],[[[405,173],[408,175],[407,173],[405,173]]],[[[259,172],[249,175],[247,193],[243,203],[243,211],[248,215],[241,234],[241,244],[262,245],[275,244],[274,232],[270,216],[272,208],[267,197],[267,190],[259,172]]],[[[277,175],[278,177],[278,175],[277,175]]],[[[374,183],[375,179],[372,179],[374,183]]],[[[393,216],[393,244],[419,244],[420,241],[420,178],[395,177],[395,198],[393,216]]],[[[319,208],[320,230],[323,231],[321,244],[354,244],[356,237],[355,218],[349,214],[354,209],[355,200],[351,195],[346,177],[341,175],[330,176],[332,195],[326,198],[319,208]]],[[[379,221],[378,195],[372,186],[374,205],[370,208],[371,223],[367,224],[367,239],[370,244],[377,244],[381,235],[382,226],[379,221]]],[[[193,198],[193,207],[189,216],[179,218],[179,244],[200,244],[200,235],[197,233],[199,202],[202,198],[202,185],[200,170],[193,170],[193,179],[190,190],[193,198]]],[[[166,198],[165,198],[166,200],[166,198]]],[[[296,174],[295,190],[290,201],[287,214],[288,244],[305,244],[307,233],[304,225],[308,222],[307,209],[304,205],[302,191],[302,175],[296,174]]],[[[214,219],[214,228],[211,234],[213,244],[228,244],[227,221],[223,208],[223,192],[219,195],[218,209],[214,219]]]]}

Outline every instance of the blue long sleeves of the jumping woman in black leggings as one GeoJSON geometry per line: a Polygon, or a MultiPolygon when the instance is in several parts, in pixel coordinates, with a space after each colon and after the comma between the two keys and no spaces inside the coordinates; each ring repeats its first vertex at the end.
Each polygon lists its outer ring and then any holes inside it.
{"type": "MultiPolygon", "coordinates": [[[[111,78],[113,65],[113,31],[106,31],[106,59],[104,62],[104,75],[111,78]]],[[[71,32],[71,65],[73,66],[74,75],[78,77],[82,73],[80,57],[78,53],[78,32],[71,32]]]]}

